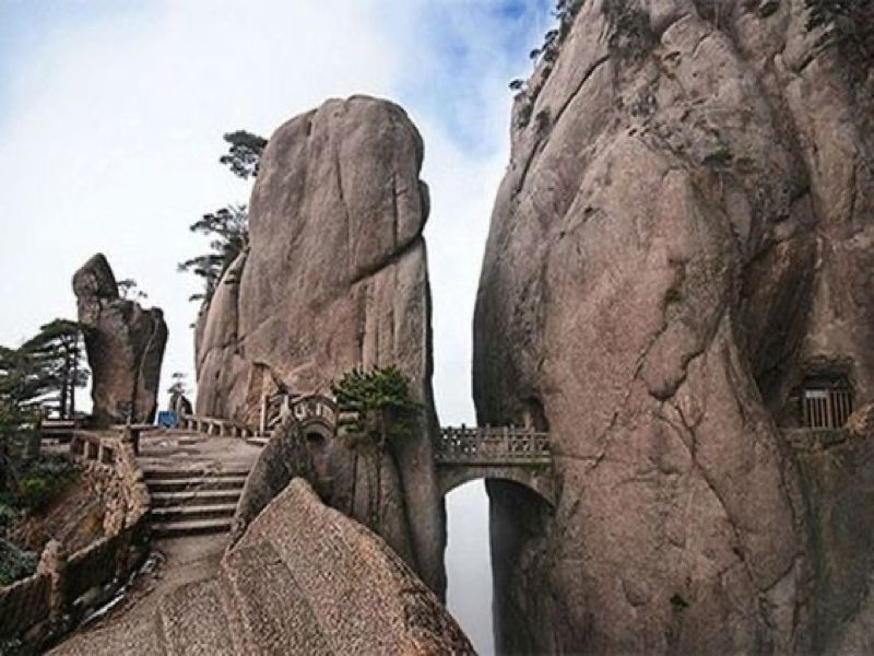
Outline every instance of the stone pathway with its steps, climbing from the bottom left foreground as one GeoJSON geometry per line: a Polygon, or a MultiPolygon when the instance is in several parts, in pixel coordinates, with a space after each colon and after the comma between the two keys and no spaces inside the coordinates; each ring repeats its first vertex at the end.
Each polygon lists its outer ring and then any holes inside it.
{"type": "Polygon", "coordinates": [[[177,431],[143,435],[139,462],[153,497],[154,532],[170,536],[153,542],[161,564],[138,577],[106,617],[72,634],[51,653],[165,653],[154,632],[162,600],[218,572],[231,526],[226,515],[233,517],[245,476],[260,452],[236,437],[177,431]],[[210,526],[215,514],[222,522],[210,526]]]}

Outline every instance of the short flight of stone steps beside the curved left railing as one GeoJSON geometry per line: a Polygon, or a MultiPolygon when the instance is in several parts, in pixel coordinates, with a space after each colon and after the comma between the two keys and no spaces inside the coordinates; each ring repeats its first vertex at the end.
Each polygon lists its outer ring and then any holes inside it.
{"type": "Polygon", "coordinates": [[[152,535],[177,538],[228,532],[249,470],[146,469],[152,535]]]}

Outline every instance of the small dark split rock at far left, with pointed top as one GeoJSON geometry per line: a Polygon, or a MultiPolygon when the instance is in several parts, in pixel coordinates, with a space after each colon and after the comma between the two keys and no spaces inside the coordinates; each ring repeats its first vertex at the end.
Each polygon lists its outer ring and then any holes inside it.
{"type": "Polygon", "coordinates": [[[122,423],[128,409],[133,423],[151,423],[167,344],[164,314],[121,298],[113,269],[102,254],[76,271],[73,292],[79,321],[85,326],[95,423],[122,423]]]}

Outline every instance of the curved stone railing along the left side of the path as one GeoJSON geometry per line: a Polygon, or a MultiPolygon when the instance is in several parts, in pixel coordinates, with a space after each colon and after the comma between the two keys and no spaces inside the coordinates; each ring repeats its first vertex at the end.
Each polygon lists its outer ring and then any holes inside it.
{"type": "Polygon", "coordinates": [[[51,540],[33,576],[0,588],[0,642],[49,644],[111,598],[147,553],[151,504],[131,432],[76,431],[70,452],[110,497],[104,537],[69,555],[51,540]]]}

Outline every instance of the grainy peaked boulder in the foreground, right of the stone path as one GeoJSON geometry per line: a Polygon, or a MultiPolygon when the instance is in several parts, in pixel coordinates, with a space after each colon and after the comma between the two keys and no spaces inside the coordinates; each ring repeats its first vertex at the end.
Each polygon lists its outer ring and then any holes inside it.
{"type": "Polygon", "coordinates": [[[222,562],[253,653],[473,654],[437,596],[379,537],[295,479],[222,562]],[[280,604],[271,604],[277,600],[280,604]],[[260,647],[260,648],[257,648],[260,647]]]}

